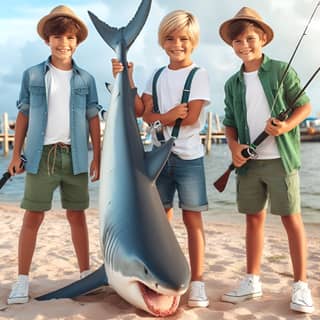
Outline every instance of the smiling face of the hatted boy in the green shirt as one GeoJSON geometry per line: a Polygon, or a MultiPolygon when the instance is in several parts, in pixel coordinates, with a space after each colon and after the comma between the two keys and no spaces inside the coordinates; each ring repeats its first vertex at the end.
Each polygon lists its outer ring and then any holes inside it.
{"type": "Polygon", "coordinates": [[[249,28],[232,41],[232,47],[246,67],[260,63],[262,47],[266,40],[266,34],[261,37],[253,28],[249,28]]]}

